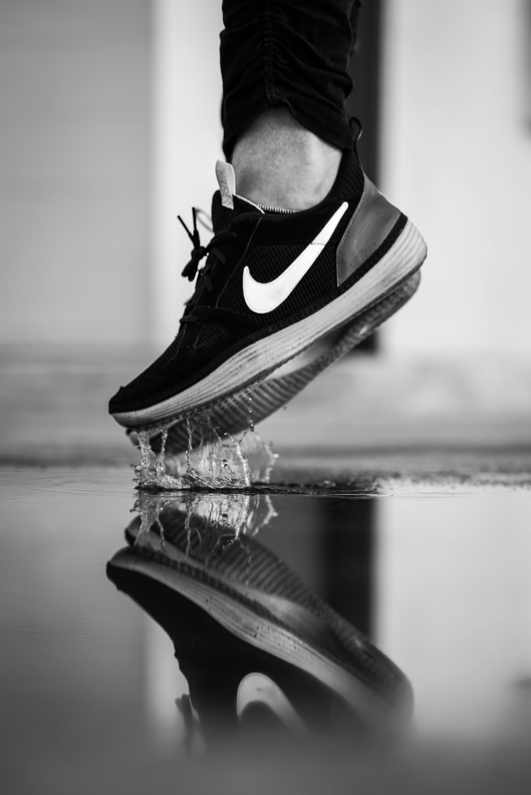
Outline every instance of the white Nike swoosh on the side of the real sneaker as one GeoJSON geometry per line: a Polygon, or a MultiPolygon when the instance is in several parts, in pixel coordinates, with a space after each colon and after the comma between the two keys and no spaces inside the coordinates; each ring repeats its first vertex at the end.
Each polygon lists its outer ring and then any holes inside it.
{"type": "Polygon", "coordinates": [[[294,259],[292,264],[273,281],[255,281],[250,275],[248,266],[245,266],[243,269],[243,297],[251,312],[265,315],[266,312],[273,312],[273,309],[284,303],[319,257],[324,246],[334,234],[335,227],[347,211],[347,207],[348,202],[344,201],[315,240],[306,246],[297,259],[294,259]]]}

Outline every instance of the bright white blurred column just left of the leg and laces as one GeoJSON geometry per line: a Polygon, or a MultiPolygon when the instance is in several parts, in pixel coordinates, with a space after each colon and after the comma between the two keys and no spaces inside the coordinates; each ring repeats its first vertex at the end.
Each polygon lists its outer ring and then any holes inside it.
{"type": "MultiPolygon", "coordinates": [[[[192,285],[180,276],[191,243],[192,206],[210,214],[223,157],[219,117],[221,0],[153,0],[153,200],[151,339],[176,335],[192,285]]],[[[204,231],[202,238],[207,238],[204,231]]]]}

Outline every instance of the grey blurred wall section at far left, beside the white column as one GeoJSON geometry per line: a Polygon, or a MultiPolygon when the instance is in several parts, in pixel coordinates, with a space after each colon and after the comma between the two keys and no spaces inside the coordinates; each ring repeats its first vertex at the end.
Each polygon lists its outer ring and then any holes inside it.
{"type": "Polygon", "coordinates": [[[151,10],[0,2],[0,341],[149,335],[151,10]]]}

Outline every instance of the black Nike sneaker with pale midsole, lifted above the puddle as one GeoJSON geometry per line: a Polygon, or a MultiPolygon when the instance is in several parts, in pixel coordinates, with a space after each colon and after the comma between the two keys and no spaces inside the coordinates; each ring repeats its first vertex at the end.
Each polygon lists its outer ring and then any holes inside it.
{"type": "Polygon", "coordinates": [[[343,156],[328,196],[297,213],[234,196],[226,169],[223,203],[216,192],[212,204],[214,238],[203,247],[196,229],[191,234],[184,274],[195,277],[200,259],[207,261],[176,339],[110,400],[126,427],[242,390],[350,323],[424,261],[421,235],[364,177],[354,152],[343,156]]]}

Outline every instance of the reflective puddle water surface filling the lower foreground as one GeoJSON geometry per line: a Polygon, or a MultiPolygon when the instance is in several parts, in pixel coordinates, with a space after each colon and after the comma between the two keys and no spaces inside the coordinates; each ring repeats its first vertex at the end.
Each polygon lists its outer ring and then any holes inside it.
{"type": "Polygon", "coordinates": [[[527,485],[0,483],[2,791],[529,791],[527,485]]]}

